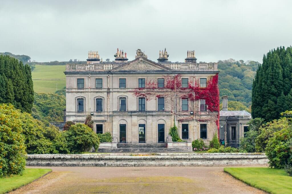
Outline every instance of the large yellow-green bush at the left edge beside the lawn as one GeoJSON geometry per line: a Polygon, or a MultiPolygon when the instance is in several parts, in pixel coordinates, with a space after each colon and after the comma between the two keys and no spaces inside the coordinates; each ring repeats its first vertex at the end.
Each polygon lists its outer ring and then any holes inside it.
{"type": "Polygon", "coordinates": [[[25,168],[25,144],[20,110],[0,104],[0,177],[19,174],[25,168]]]}

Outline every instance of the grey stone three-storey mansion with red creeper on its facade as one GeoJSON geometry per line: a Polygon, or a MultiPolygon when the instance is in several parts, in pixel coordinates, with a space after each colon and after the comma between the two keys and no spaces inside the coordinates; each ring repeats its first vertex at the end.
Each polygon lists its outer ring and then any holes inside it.
{"type": "Polygon", "coordinates": [[[217,63],[197,63],[194,51],[171,63],[166,49],[157,62],[140,49],[132,61],[119,49],[114,57],[89,51],[87,64],[66,65],[67,121],[92,115],[94,131],[118,143],[164,143],[174,125],[182,140],[209,143],[219,126],[217,63]]]}

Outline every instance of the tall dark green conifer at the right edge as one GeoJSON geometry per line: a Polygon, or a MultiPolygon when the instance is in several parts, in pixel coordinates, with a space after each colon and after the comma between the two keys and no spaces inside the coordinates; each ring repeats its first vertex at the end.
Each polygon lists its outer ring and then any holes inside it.
{"type": "Polygon", "coordinates": [[[264,55],[253,81],[252,116],[278,119],[292,109],[292,49],[278,47],[264,55]]]}

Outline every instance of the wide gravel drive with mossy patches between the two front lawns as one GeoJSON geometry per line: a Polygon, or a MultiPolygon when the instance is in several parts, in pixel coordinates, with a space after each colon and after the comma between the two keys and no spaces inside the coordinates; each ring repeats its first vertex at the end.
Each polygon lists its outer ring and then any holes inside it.
{"type": "Polygon", "coordinates": [[[51,174],[11,193],[265,193],[223,168],[51,167],[51,174]]]}

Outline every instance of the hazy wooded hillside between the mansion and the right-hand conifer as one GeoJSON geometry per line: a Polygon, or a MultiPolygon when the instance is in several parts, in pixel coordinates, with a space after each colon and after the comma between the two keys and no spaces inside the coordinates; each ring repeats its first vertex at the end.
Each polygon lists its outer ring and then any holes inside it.
{"type": "Polygon", "coordinates": [[[253,78],[259,64],[256,61],[219,60],[220,97],[227,95],[229,102],[239,101],[250,109],[253,78]]]}

